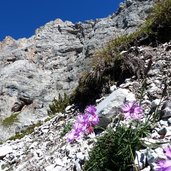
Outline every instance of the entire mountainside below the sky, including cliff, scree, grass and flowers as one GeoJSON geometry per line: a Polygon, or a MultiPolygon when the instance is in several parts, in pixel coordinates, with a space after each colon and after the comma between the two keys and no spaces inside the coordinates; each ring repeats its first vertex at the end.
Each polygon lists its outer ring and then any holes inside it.
{"type": "Polygon", "coordinates": [[[171,170],[171,0],[135,31],[153,3],[126,0],[107,18],[58,19],[1,43],[0,138],[17,134],[0,142],[0,171],[171,170]],[[91,104],[84,114],[73,104],[46,118],[74,89],[70,99],[91,104]]]}

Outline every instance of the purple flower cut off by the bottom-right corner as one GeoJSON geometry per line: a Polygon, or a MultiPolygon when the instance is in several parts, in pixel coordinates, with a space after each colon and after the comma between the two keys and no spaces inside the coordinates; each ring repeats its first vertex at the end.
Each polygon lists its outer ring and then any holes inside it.
{"type": "Polygon", "coordinates": [[[160,160],[157,163],[156,171],[171,171],[171,147],[164,148],[166,160],[160,160]]]}

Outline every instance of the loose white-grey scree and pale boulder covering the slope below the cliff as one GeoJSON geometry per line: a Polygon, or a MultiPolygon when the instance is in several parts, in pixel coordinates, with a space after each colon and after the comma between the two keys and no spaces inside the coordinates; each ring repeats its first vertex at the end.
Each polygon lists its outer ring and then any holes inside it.
{"type": "MultiPolygon", "coordinates": [[[[157,48],[138,47],[137,55],[144,60],[145,65],[149,64],[149,60],[152,61],[141,99],[143,113],[148,117],[157,107],[161,115],[151,134],[144,138],[144,142],[148,144],[147,148],[144,146],[142,150],[137,151],[136,163],[142,171],[155,170],[156,161],[164,155],[162,144],[164,147],[170,143],[170,45],[171,42],[157,48]],[[167,89],[165,89],[165,85],[167,85],[167,89]],[[149,149],[149,147],[152,148],[149,149]]],[[[142,90],[143,81],[144,79],[136,80],[135,77],[132,77],[119,87],[111,87],[111,93],[103,97],[103,100],[97,105],[100,120],[102,121],[101,118],[104,116],[108,119],[111,115],[117,116],[125,99],[134,101],[135,95],[141,94],[139,91],[142,90]]],[[[72,144],[67,143],[61,134],[66,124],[74,123],[76,115],[77,112],[69,111],[69,107],[67,107],[65,114],[59,113],[41,127],[35,128],[31,135],[0,145],[0,167],[4,168],[2,170],[81,171],[96,138],[103,135],[104,132],[93,133],[72,144]]],[[[110,126],[112,124],[114,122],[110,126]]]]}

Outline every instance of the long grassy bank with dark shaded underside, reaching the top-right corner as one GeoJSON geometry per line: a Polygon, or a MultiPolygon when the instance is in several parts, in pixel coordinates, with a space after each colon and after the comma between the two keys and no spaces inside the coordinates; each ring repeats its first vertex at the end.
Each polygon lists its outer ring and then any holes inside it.
{"type": "Polygon", "coordinates": [[[171,0],[164,0],[154,5],[151,14],[138,31],[110,41],[94,55],[91,71],[82,74],[71,95],[71,103],[84,109],[85,106],[94,104],[104,91],[108,92],[110,83],[120,85],[133,75],[138,78],[143,76],[144,64],[140,59],[129,56],[130,47],[156,46],[170,39],[171,0]],[[121,53],[123,51],[128,53],[121,53]]]}

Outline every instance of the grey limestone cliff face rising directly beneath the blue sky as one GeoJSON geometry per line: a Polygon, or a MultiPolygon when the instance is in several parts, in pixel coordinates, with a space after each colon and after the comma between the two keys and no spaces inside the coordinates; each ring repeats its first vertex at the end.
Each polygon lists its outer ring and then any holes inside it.
{"type": "Polygon", "coordinates": [[[0,42],[0,122],[14,112],[18,122],[0,124],[0,140],[47,116],[59,93],[70,94],[82,71],[90,68],[95,50],[110,39],[134,31],[153,0],[126,0],[107,18],[73,24],[60,19],[36,30],[29,39],[0,42]]]}

